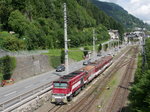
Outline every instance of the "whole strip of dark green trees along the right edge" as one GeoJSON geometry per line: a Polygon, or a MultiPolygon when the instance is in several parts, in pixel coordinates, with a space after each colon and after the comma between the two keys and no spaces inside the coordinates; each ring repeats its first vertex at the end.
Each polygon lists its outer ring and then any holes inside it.
{"type": "Polygon", "coordinates": [[[129,99],[132,112],[150,110],[150,39],[146,40],[145,53],[139,56],[135,81],[129,99]]]}

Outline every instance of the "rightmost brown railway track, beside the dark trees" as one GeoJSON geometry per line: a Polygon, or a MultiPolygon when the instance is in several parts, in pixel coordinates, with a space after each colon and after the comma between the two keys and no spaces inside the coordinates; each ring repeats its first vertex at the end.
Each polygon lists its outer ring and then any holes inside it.
{"type": "Polygon", "coordinates": [[[129,82],[132,77],[132,71],[133,71],[133,65],[135,63],[136,53],[137,53],[137,49],[134,48],[133,55],[129,59],[128,66],[126,67],[126,72],[123,74],[120,85],[115,91],[115,94],[112,98],[109,108],[107,109],[107,112],[122,112],[123,111],[123,106],[125,104],[125,101],[129,93],[128,87],[129,87],[129,82]]]}

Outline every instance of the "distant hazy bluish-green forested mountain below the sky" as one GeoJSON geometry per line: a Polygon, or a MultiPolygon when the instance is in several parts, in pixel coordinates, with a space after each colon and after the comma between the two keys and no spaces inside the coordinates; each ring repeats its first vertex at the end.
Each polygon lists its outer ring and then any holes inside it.
{"type": "Polygon", "coordinates": [[[98,0],[90,0],[99,9],[106,12],[109,16],[113,17],[116,21],[122,23],[127,29],[135,27],[145,27],[150,29],[148,24],[145,24],[142,20],[129,14],[126,10],[114,3],[101,2],[98,0]]]}

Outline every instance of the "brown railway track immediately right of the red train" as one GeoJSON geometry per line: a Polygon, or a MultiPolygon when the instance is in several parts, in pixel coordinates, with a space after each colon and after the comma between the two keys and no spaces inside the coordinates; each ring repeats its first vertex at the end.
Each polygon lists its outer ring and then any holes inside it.
{"type": "MultiPolygon", "coordinates": [[[[131,51],[132,49],[128,50],[126,54],[128,54],[131,51]]],[[[91,108],[91,105],[99,96],[99,92],[97,91],[103,91],[113,74],[116,73],[119,68],[123,67],[123,65],[127,64],[125,55],[120,58],[120,61],[113,67],[112,71],[109,71],[107,74],[105,74],[104,78],[95,85],[95,88],[89,94],[87,94],[83,99],[81,99],[77,103],[77,105],[72,106],[66,112],[88,112],[91,108]]]]}

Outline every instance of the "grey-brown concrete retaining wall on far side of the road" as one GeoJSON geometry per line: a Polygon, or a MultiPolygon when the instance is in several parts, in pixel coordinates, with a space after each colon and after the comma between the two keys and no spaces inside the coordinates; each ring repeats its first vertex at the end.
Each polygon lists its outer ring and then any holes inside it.
{"type": "Polygon", "coordinates": [[[53,68],[50,67],[49,57],[46,55],[32,55],[16,57],[16,68],[12,78],[20,81],[44,72],[48,72],[53,68]]]}

